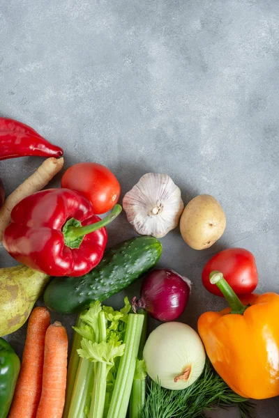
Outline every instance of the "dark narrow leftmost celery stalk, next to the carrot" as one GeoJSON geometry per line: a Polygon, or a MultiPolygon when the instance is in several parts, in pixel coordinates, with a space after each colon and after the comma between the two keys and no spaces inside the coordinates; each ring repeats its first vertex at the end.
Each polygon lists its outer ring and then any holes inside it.
{"type": "MultiPolygon", "coordinates": [[[[80,327],[82,320],[80,316],[77,316],[77,322],[75,324],[76,327],[80,327]]],[[[77,368],[80,362],[80,356],[77,354],[77,349],[80,348],[80,341],[82,340],[82,336],[74,333],[73,336],[73,343],[72,343],[72,350],[70,351],[70,359],[68,364],[68,372],[67,372],[67,386],[66,386],[66,400],[65,406],[63,410],[63,418],[68,418],[68,412],[70,409],[70,400],[73,394],[73,387],[75,385],[75,376],[77,374],[77,368]]]]}

